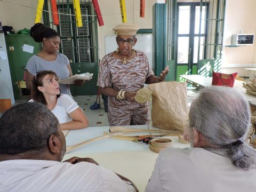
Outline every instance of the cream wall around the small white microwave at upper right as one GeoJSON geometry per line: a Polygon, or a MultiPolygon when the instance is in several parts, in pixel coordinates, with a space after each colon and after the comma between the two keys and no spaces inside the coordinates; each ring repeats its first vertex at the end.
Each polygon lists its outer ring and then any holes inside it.
{"type": "MultiPolygon", "coordinates": [[[[256,33],[256,1],[255,0],[227,0],[226,2],[226,20],[224,31],[224,45],[230,45],[231,35],[239,34],[242,30],[244,34],[256,33]]],[[[223,65],[234,63],[256,62],[256,45],[240,46],[236,48],[223,47],[223,65]]]]}

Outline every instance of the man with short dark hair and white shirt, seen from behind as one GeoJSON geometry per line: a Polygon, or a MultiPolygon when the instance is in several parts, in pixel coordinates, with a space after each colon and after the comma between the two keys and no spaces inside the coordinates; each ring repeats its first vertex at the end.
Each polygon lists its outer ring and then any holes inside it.
{"type": "Polygon", "coordinates": [[[0,191],[138,191],[91,158],[61,163],[66,141],[58,119],[28,102],[0,118],[0,191]]]}

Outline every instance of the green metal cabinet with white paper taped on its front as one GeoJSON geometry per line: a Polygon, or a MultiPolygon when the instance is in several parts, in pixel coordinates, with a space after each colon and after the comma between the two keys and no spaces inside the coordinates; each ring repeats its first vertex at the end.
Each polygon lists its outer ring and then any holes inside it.
{"type": "Polygon", "coordinates": [[[22,81],[30,57],[41,50],[41,43],[36,43],[30,35],[5,35],[14,98],[19,99],[17,81],[22,81]]]}

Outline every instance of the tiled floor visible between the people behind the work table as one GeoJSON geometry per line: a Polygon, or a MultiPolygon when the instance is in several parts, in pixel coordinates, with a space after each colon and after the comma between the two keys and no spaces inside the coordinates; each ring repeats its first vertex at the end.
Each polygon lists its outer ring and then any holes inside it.
{"type": "MultiPolygon", "coordinates": [[[[194,100],[197,96],[195,90],[188,90],[188,103],[194,100]]],[[[78,103],[78,105],[83,109],[85,115],[89,119],[89,126],[108,126],[108,114],[104,110],[103,99],[100,96],[100,109],[91,110],[90,106],[93,105],[96,100],[96,95],[83,95],[83,96],[74,96],[74,100],[78,103]]],[[[15,104],[27,102],[26,99],[16,100],[15,104]]],[[[151,114],[151,101],[150,101],[150,114],[151,114]]],[[[1,116],[1,114],[0,114],[1,116]]],[[[151,117],[151,115],[150,115],[151,117]]],[[[150,121],[151,122],[151,121],[150,121]]]]}

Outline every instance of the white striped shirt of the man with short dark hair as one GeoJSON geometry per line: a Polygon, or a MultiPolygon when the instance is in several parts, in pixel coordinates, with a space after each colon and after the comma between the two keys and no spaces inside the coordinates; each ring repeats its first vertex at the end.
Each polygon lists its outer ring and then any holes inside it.
{"type": "Polygon", "coordinates": [[[92,163],[45,160],[0,162],[0,191],[135,191],[114,172],[92,163]]]}

